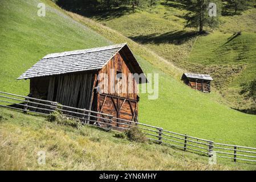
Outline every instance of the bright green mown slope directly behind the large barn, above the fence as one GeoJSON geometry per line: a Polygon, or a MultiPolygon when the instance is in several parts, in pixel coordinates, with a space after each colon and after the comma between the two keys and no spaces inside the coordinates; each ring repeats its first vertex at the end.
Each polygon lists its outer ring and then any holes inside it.
{"type": "Polygon", "coordinates": [[[0,45],[1,90],[27,94],[29,81],[15,81],[15,78],[47,53],[104,46],[111,43],[109,40],[115,43],[119,40],[129,43],[145,73],[160,74],[159,99],[148,100],[147,94],[140,94],[140,122],[216,142],[256,146],[254,115],[239,113],[219,104],[217,93],[202,94],[189,89],[161,71],[171,68],[173,73],[180,72],[174,71],[172,65],[161,64],[164,62],[161,57],[157,59],[157,55],[117,32],[77,16],[81,23],[100,35],[91,31],[65,15],[50,1],[46,1],[46,17],[38,17],[38,2],[1,1],[1,7],[5,7],[1,8],[0,22],[1,41],[5,43],[0,45]]]}

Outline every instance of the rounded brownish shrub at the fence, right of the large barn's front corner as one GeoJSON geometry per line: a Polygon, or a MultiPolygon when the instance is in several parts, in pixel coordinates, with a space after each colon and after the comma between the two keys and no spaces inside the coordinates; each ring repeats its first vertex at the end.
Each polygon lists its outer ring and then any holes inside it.
{"type": "Polygon", "coordinates": [[[141,143],[147,142],[147,138],[145,137],[145,135],[136,126],[133,126],[131,127],[131,129],[125,131],[125,135],[131,141],[141,143]]]}

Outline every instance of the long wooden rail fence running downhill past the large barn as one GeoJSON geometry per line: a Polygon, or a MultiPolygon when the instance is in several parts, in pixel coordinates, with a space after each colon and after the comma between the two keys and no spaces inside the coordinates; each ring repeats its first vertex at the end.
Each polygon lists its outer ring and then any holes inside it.
{"type": "Polygon", "coordinates": [[[117,131],[124,131],[129,129],[131,126],[136,126],[145,135],[147,135],[149,140],[158,144],[164,144],[166,146],[179,148],[184,151],[195,152],[197,154],[209,157],[216,154],[217,158],[229,159],[233,162],[256,162],[256,148],[253,147],[216,143],[212,140],[196,138],[186,134],[174,133],[172,131],[164,130],[161,127],[116,118],[109,114],[70,106],[59,106],[57,102],[19,96],[17,94],[6,92],[0,92],[0,103],[0,106],[2,107],[21,110],[24,113],[30,112],[35,114],[49,115],[54,110],[61,110],[63,114],[67,115],[68,117],[80,119],[84,125],[94,125],[105,130],[113,129],[117,131]]]}

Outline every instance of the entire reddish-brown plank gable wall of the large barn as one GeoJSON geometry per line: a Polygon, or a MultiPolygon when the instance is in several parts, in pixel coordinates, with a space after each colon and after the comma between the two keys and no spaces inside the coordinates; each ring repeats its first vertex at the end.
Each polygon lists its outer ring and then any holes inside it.
{"type": "MultiPolygon", "coordinates": [[[[131,71],[120,53],[117,53],[99,71],[99,82],[104,82],[104,86],[101,90],[102,93],[97,94],[96,110],[100,113],[111,114],[116,118],[137,121],[137,82],[131,75],[131,71]],[[101,73],[106,74],[108,80],[101,77],[101,73]],[[123,73],[122,77],[118,77],[118,73],[123,73]],[[107,86],[106,84],[109,85],[107,86]]],[[[116,120],[117,122],[122,122],[118,119],[116,120]]],[[[127,125],[119,123],[115,123],[115,125],[117,127],[127,127],[127,125]]]]}

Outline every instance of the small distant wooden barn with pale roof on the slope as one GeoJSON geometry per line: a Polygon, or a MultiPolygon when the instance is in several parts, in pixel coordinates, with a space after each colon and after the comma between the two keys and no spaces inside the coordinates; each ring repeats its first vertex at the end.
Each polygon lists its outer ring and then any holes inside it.
{"type": "Polygon", "coordinates": [[[184,73],[181,77],[184,84],[201,92],[210,93],[210,82],[213,78],[210,75],[202,75],[195,73],[184,73]]]}

